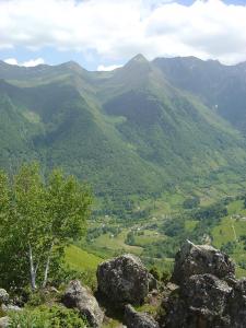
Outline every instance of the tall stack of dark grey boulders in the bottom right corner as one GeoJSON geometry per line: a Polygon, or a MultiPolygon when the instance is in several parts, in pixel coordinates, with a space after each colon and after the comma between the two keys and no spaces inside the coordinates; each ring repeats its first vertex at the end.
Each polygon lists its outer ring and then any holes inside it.
{"type": "Polygon", "coordinates": [[[225,254],[187,242],[176,256],[178,285],[163,301],[162,327],[245,328],[246,279],[236,280],[234,272],[225,254]]]}

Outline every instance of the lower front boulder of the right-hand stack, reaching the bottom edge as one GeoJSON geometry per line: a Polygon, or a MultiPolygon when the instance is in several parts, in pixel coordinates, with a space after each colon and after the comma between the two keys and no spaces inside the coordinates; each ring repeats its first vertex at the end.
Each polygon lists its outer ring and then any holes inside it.
{"type": "Polygon", "coordinates": [[[191,276],[178,297],[167,300],[165,327],[231,327],[226,306],[232,294],[233,289],[215,276],[191,276]]]}

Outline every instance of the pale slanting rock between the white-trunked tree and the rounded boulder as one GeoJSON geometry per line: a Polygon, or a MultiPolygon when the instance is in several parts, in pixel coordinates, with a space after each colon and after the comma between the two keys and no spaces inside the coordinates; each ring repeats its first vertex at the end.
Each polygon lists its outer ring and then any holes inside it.
{"type": "Polygon", "coordinates": [[[96,298],[81,285],[79,280],[73,280],[69,283],[68,289],[62,297],[62,303],[70,308],[78,308],[83,315],[90,327],[101,327],[104,313],[98,306],[96,298]]]}

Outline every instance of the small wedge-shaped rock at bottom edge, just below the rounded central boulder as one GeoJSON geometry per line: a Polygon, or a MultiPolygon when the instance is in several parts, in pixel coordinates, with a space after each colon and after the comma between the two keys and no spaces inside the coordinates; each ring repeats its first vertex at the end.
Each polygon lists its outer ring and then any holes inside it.
{"type": "Polygon", "coordinates": [[[125,321],[128,328],[159,328],[159,324],[148,314],[138,313],[131,305],[125,307],[125,321]]]}

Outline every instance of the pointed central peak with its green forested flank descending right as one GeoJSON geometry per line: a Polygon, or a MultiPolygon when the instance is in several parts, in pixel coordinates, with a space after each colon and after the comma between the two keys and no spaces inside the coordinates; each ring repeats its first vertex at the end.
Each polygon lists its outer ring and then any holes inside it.
{"type": "Polygon", "coordinates": [[[172,86],[151,63],[137,57],[110,81],[114,93],[106,96],[104,110],[125,118],[117,126],[122,138],[173,181],[244,163],[239,133],[197,98],[172,86]]]}

